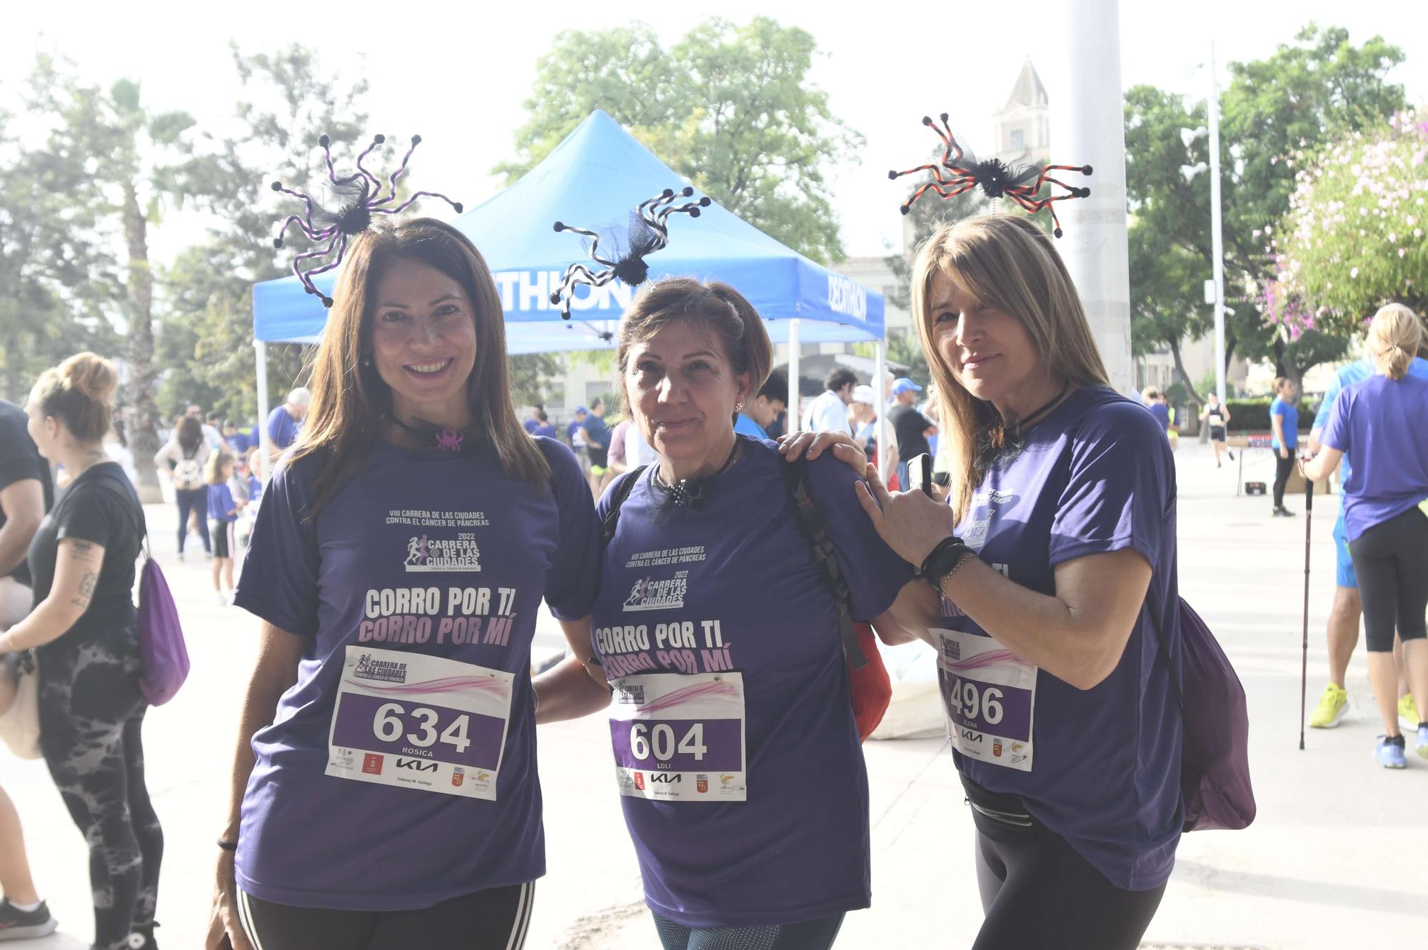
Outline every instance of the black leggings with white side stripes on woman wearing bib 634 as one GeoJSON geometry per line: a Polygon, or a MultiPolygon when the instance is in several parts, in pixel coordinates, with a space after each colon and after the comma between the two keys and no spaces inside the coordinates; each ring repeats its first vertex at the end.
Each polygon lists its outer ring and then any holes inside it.
{"type": "Polygon", "coordinates": [[[254,950],[521,950],[536,882],[491,887],[421,910],[290,907],[238,892],[254,950]]]}

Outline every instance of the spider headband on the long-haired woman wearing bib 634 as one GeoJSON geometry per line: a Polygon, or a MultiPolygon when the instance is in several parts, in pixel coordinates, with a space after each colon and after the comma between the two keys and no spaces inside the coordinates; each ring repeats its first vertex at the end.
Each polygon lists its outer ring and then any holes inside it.
{"type": "Polygon", "coordinates": [[[371,151],[387,141],[386,136],[373,136],[371,144],[367,150],[357,155],[357,171],[354,174],[346,175],[343,178],[337,177],[337,170],[333,167],[333,153],[328,145],[331,140],[323,136],[317,140],[317,144],[323,148],[323,158],[327,161],[327,185],[328,190],[336,195],[334,204],[336,210],[328,210],[320,205],[311,195],[303,194],[301,191],[293,191],[291,188],[284,188],[281,181],[273,183],[273,191],[281,191],[283,194],[290,194],[303,203],[303,214],[291,214],[283,227],[278,228],[277,237],[273,238],[273,247],[283,247],[283,234],[293,224],[307,235],[310,241],[320,242],[327,241],[321,248],[298,254],[293,260],[293,272],[297,278],[303,281],[303,290],[308,294],[317,294],[323,301],[323,307],[331,307],[333,298],[324,297],[317,287],[313,285],[313,277],[316,274],[324,274],[334,270],[343,262],[343,255],[347,254],[347,241],[367,228],[371,227],[373,215],[377,214],[400,214],[411,207],[417,198],[441,198],[453,208],[457,214],[461,213],[461,203],[453,201],[444,194],[437,194],[436,191],[418,191],[400,205],[391,207],[397,200],[397,178],[400,178],[407,171],[407,163],[411,161],[411,153],[417,150],[421,144],[421,136],[411,137],[411,148],[401,158],[401,167],[391,173],[387,178],[387,194],[383,195],[381,178],[367,171],[363,167],[363,158],[371,154],[371,151]],[[303,270],[306,261],[320,261],[326,257],[333,257],[331,261],[320,267],[313,267],[303,270]]]}

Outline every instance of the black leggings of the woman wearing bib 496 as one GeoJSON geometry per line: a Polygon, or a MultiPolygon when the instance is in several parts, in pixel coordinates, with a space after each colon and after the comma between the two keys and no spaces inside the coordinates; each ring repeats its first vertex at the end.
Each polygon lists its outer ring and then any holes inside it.
{"type": "Polygon", "coordinates": [[[1031,817],[1015,797],[992,796],[967,779],[977,824],[977,887],[987,914],[972,950],[1135,950],[1165,884],[1122,890],[1064,837],[1031,817]]]}

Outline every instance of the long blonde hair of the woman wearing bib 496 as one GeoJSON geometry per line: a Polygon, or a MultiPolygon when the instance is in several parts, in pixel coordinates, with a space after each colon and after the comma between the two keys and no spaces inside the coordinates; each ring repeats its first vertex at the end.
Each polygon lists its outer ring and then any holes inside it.
{"type": "Polygon", "coordinates": [[[1085,308],[1051,238],[1021,217],[964,218],[942,225],[912,261],[912,321],[937,384],[940,451],[951,474],[951,506],[961,521],[981,484],[978,434],[1001,422],[997,409],[968,392],[937,351],[932,281],[955,287],[1021,321],[1037,359],[1072,385],[1108,385],[1085,308]],[[942,448],[945,446],[945,448],[942,448]]]}

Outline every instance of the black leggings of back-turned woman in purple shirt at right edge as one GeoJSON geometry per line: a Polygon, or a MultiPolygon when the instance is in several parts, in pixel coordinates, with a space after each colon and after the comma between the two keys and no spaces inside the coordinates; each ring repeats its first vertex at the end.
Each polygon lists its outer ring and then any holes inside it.
{"type": "Polygon", "coordinates": [[[1428,515],[1418,506],[1379,522],[1349,542],[1364,598],[1364,639],[1372,653],[1425,636],[1428,609],[1428,515]]]}

